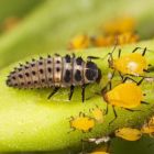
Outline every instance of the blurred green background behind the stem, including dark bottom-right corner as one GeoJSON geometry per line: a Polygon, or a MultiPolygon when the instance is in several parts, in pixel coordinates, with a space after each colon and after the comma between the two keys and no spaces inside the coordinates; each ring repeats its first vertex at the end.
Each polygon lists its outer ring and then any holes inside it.
{"type": "MultiPolygon", "coordinates": [[[[30,55],[63,53],[74,35],[97,33],[101,24],[123,15],[135,19],[141,40],[154,37],[153,0],[0,0],[0,68],[30,55]]],[[[151,142],[116,140],[112,151],[153,154],[151,142]]]]}

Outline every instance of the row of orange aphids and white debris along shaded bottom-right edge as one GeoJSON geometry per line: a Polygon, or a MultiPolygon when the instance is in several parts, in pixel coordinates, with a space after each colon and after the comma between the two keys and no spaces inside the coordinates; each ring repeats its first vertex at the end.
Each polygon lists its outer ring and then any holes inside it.
{"type": "Polygon", "coordinates": [[[154,135],[154,117],[151,117],[141,128],[121,128],[117,129],[114,132],[96,139],[85,139],[82,142],[90,142],[96,144],[107,144],[106,148],[98,148],[91,153],[87,154],[109,154],[110,153],[110,144],[113,138],[120,138],[127,141],[138,141],[143,135],[154,135]]]}

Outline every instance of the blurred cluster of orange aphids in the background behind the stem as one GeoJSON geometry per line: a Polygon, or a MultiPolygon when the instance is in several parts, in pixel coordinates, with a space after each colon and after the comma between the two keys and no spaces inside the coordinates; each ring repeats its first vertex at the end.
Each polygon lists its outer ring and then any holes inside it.
{"type": "Polygon", "coordinates": [[[111,46],[114,44],[116,38],[119,45],[135,43],[139,41],[139,35],[134,26],[134,20],[131,18],[118,19],[107,23],[103,32],[99,34],[78,34],[74,36],[69,42],[68,50],[111,46]]]}

